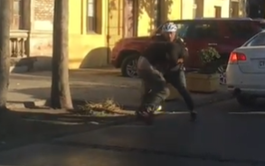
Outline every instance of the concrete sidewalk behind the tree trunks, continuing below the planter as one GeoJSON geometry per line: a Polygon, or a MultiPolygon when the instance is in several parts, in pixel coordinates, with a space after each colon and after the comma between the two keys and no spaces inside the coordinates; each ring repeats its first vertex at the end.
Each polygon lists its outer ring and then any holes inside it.
{"type": "MultiPolygon", "coordinates": [[[[136,107],[140,100],[140,81],[122,78],[116,70],[74,70],[70,72],[71,97],[73,100],[99,102],[113,98],[119,105],[136,107]]],[[[24,107],[33,103],[43,106],[51,91],[51,73],[11,74],[8,106],[24,107]]],[[[197,106],[230,98],[226,89],[213,94],[193,94],[197,106]]],[[[175,102],[176,103],[176,102],[175,102]]],[[[183,103],[183,102],[181,102],[183,103]]]]}

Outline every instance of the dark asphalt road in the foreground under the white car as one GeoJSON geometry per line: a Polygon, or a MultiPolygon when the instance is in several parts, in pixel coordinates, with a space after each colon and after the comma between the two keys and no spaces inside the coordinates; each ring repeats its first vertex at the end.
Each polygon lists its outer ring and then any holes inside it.
{"type": "Polygon", "coordinates": [[[234,100],[203,106],[194,124],[185,112],[160,115],[152,126],[110,126],[1,152],[0,165],[261,166],[264,107],[234,100]]]}

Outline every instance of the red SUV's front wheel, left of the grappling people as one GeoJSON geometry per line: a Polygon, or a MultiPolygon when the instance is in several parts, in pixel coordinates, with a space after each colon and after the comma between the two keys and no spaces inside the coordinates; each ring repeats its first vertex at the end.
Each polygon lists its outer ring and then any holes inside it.
{"type": "Polygon", "coordinates": [[[121,74],[123,77],[137,78],[138,55],[129,55],[121,64],[121,74]]]}

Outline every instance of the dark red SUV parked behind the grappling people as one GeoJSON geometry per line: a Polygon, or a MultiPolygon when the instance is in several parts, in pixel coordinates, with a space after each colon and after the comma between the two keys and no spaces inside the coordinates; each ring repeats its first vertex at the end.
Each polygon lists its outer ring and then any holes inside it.
{"type": "MultiPolygon", "coordinates": [[[[203,48],[215,48],[222,60],[227,61],[232,50],[261,31],[259,24],[249,18],[203,18],[170,22],[177,25],[178,35],[189,50],[189,58],[185,61],[188,69],[200,68],[201,61],[197,52],[203,48]]],[[[151,36],[126,38],[116,43],[111,52],[111,63],[115,68],[121,68],[123,76],[137,77],[137,59],[149,42],[160,35],[162,25],[151,36]]]]}

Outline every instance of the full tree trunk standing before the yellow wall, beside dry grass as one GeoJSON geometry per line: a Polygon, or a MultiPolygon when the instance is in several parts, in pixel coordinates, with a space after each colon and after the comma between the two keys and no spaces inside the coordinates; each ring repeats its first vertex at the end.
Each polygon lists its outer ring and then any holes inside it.
{"type": "Polygon", "coordinates": [[[52,35],[52,93],[54,109],[72,109],[68,71],[69,0],[54,0],[52,35]]]}

